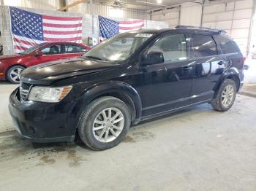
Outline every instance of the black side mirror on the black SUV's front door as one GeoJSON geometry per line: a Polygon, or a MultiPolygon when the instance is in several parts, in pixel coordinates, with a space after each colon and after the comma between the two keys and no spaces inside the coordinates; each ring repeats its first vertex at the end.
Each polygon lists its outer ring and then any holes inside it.
{"type": "Polygon", "coordinates": [[[164,62],[165,59],[162,52],[149,52],[148,54],[143,55],[143,57],[141,58],[141,63],[143,66],[164,62]]]}

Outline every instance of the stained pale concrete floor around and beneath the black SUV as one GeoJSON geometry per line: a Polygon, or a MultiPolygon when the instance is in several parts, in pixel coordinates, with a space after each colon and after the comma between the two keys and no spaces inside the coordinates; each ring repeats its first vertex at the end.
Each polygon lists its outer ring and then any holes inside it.
{"type": "Polygon", "coordinates": [[[256,190],[253,96],[238,95],[224,113],[203,104],[143,122],[93,152],[20,139],[7,110],[16,85],[0,87],[0,190],[256,190]]]}

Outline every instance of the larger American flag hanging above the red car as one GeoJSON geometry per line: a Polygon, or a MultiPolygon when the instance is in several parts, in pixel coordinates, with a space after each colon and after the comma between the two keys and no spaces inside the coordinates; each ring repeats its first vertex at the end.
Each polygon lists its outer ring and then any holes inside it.
{"type": "Polygon", "coordinates": [[[16,7],[10,7],[10,17],[15,52],[42,42],[82,43],[82,17],[39,15],[16,7]]]}

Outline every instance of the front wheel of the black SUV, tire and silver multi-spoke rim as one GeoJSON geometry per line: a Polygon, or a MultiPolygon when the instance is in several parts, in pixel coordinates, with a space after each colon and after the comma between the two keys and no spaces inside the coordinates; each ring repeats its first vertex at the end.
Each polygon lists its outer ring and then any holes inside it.
{"type": "Polygon", "coordinates": [[[83,110],[78,122],[78,134],[83,143],[90,149],[110,149],[124,139],[130,125],[131,114],[128,106],[118,98],[105,96],[92,101],[91,104],[83,110]],[[109,108],[111,108],[111,112],[109,112],[109,108]],[[121,113],[119,114],[119,112],[121,113]],[[105,117],[103,116],[104,113],[105,117]],[[119,115],[114,120],[104,120],[106,117],[109,119],[109,114],[111,114],[112,119],[114,119],[113,117],[117,114],[119,115]],[[122,117],[123,120],[121,120],[122,117]],[[116,122],[118,120],[120,121],[116,122]],[[100,129],[96,130],[97,128],[100,129]],[[116,134],[116,136],[113,136],[112,132],[116,134]],[[105,139],[106,134],[108,135],[107,139],[105,139]]]}

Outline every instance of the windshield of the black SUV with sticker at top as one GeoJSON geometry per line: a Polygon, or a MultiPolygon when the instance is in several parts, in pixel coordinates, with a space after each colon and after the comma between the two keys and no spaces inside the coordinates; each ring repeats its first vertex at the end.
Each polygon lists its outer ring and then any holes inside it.
{"type": "Polygon", "coordinates": [[[83,55],[83,57],[116,63],[125,61],[143,44],[143,42],[146,42],[150,36],[152,36],[152,34],[138,34],[132,32],[118,34],[98,44],[83,55]]]}

